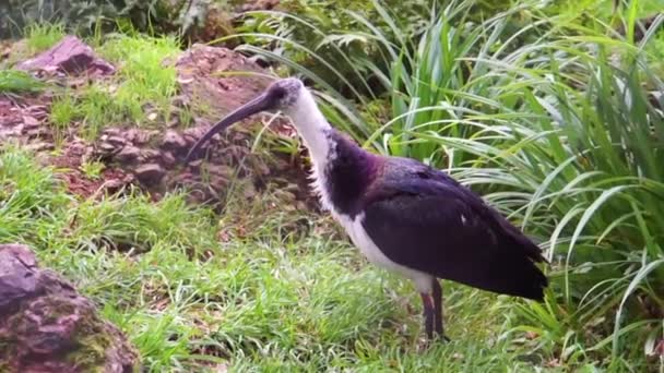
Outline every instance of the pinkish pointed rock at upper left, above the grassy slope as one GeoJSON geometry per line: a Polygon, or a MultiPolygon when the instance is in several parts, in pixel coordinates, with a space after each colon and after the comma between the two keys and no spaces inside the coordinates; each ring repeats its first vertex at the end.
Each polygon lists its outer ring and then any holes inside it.
{"type": "Polygon", "coordinates": [[[111,74],[115,68],[98,58],[90,46],[75,36],[68,35],[49,50],[16,65],[20,70],[60,71],[68,74],[98,72],[111,74]]]}

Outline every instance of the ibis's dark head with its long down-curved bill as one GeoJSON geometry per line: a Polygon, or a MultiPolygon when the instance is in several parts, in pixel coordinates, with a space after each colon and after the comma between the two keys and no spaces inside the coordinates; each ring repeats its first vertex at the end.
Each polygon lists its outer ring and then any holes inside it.
{"type": "Polygon", "coordinates": [[[234,123],[261,111],[282,111],[286,116],[292,116],[298,110],[297,107],[303,100],[313,103],[311,95],[307,88],[305,88],[305,85],[300,80],[287,77],[275,81],[258,97],[235,109],[214,124],[210,131],[193,145],[187,156],[187,161],[191,160],[200,148],[216,133],[224,131],[234,123]]]}

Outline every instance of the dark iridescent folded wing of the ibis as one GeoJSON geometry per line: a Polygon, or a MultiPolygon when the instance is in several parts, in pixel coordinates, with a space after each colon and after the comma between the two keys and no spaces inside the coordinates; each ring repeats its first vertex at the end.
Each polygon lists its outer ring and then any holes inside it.
{"type": "Polygon", "coordinates": [[[447,175],[398,158],[365,196],[363,226],[390,260],[481,289],[541,299],[540,249],[447,175]]]}

